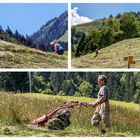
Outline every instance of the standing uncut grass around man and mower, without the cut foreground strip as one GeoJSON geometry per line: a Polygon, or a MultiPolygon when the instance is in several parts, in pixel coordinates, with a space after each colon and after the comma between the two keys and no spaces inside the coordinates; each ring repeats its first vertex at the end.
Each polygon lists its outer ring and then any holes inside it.
{"type": "MultiPolygon", "coordinates": [[[[64,101],[78,100],[91,102],[94,99],[85,97],[60,97],[42,94],[0,93],[0,124],[29,124],[33,119],[47,114],[48,111],[64,101]]],[[[111,101],[111,130],[113,133],[129,133],[140,136],[140,105],[111,101]]],[[[70,109],[71,125],[69,131],[96,131],[90,120],[94,108],[82,106],[70,109]]]]}

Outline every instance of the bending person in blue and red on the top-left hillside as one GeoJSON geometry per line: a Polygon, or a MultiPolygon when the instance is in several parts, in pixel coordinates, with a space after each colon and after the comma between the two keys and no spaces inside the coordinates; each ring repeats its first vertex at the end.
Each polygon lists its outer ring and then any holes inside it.
{"type": "Polygon", "coordinates": [[[50,45],[56,54],[58,55],[64,54],[64,48],[60,44],[56,43],[55,41],[52,41],[50,45]]]}

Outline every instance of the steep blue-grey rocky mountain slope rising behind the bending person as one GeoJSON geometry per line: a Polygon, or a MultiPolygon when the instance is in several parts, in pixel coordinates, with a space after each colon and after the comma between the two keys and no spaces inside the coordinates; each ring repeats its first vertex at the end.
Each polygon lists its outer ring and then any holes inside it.
{"type": "Polygon", "coordinates": [[[59,17],[55,17],[48,21],[45,25],[43,25],[37,32],[31,35],[33,42],[35,44],[44,44],[45,51],[50,51],[50,42],[53,40],[59,40],[59,43],[63,45],[65,50],[67,50],[68,46],[66,43],[68,42],[67,38],[67,30],[68,30],[68,12],[65,11],[59,17]],[[65,39],[61,40],[62,36],[66,36],[65,39]]]}

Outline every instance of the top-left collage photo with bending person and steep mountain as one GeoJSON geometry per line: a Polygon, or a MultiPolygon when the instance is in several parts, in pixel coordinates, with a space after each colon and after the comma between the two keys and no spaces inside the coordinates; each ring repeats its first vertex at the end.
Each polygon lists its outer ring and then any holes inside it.
{"type": "Polygon", "coordinates": [[[68,4],[0,3],[0,68],[68,68],[68,4]]]}

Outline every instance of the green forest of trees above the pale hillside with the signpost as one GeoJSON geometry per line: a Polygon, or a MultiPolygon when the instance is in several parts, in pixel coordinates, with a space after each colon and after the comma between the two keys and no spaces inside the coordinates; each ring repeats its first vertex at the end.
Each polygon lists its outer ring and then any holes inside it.
{"type": "Polygon", "coordinates": [[[72,51],[75,57],[102,49],[118,41],[140,37],[140,12],[127,12],[102,19],[101,26],[90,32],[72,28],[72,51]]]}

